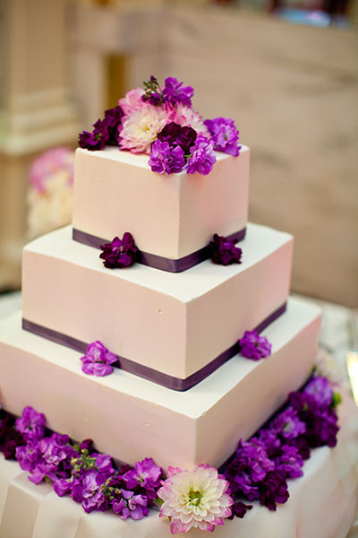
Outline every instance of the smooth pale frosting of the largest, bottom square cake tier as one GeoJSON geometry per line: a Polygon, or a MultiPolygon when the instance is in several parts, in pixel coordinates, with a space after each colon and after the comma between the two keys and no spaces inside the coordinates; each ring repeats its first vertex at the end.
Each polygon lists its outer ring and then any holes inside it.
{"type": "Polygon", "coordinates": [[[21,414],[32,405],[53,430],[93,438],[98,450],[134,463],[191,467],[223,464],[311,373],[320,308],[289,299],[286,314],[264,331],[272,354],[235,356],[187,392],[119,369],[107,377],[81,371],[81,354],[21,330],[21,315],[0,326],[0,394],[21,414]]]}

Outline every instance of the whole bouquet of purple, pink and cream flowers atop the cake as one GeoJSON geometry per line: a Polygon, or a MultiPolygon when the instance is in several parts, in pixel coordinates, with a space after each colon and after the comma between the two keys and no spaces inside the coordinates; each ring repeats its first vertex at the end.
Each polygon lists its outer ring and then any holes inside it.
{"type": "Polygon", "coordinates": [[[203,120],[192,108],[192,86],[175,77],[167,77],[161,86],[153,75],[143,85],[128,91],[117,107],[106,110],[92,132],[83,131],[80,147],[97,151],[115,144],[123,151],[148,153],[149,166],[158,174],[185,170],[207,175],[217,161],[215,152],[239,155],[234,120],[203,120]]]}

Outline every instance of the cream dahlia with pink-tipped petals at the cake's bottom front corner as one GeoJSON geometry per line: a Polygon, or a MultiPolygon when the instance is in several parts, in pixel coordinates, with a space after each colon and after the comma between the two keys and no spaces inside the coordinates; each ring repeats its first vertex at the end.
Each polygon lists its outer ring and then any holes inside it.
{"type": "Polygon", "coordinates": [[[158,490],[163,500],[160,517],[170,517],[172,534],[186,533],[192,527],[214,531],[231,516],[234,501],[226,493],[228,482],[215,467],[196,465],[192,471],[169,467],[168,478],[158,490]]]}

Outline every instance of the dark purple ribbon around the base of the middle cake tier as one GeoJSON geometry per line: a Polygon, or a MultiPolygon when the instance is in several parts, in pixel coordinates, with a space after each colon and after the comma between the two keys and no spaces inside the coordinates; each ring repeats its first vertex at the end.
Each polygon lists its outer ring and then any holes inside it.
{"type": "MultiPolygon", "coordinates": [[[[285,311],[286,303],[281,305],[274,312],[272,312],[272,314],[266,317],[259,325],[255,327],[255,330],[260,333],[269,324],[275,321],[277,317],[281,316],[281,314],[283,314],[285,311]]],[[[67,334],[58,333],[57,331],[53,331],[52,329],[47,329],[47,327],[32,323],[32,321],[29,321],[28,319],[22,319],[22,328],[26,331],[30,331],[30,333],[38,334],[38,336],[42,336],[47,340],[52,340],[55,343],[60,343],[61,345],[69,347],[72,350],[79,351],[81,353],[85,353],[88,347],[88,344],[81,342],[81,340],[72,338],[72,336],[68,336],[67,334]]],[[[188,390],[189,388],[192,388],[192,386],[200,383],[200,381],[215,372],[215,370],[222,366],[226,362],[226,360],[229,360],[234,357],[234,355],[236,355],[236,353],[238,353],[239,351],[240,346],[239,343],[236,342],[226,351],[220,353],[220,355],[218,355],[216,359],[211,360],[209,364],[192,374],[192,376],[186,377],[186,379],[168,376],[163,372],[159,372],[158,370],[149,368],[148,366],[143,366],[138,362],[125,359],[124,357],[118,357],[118,363],[115,363],[113,366],[115,366],[116,368],[123,369],[124,371],[134,374],[135,376],[144,377],[145,379],[153,381],[158,385],[166,386],[166,388],[171,388],[173,390],[183,392],[185,390],[188,390]]]]}

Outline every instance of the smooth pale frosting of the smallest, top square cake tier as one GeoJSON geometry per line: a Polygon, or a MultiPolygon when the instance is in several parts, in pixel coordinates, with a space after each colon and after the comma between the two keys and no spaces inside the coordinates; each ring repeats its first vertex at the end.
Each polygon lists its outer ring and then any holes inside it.
{"type": "Polygon", "coordinates": [[[208,176],[160,175],[148,160],[116,147],[77,149],[73,227],[108,240],[130,231],[143,252],[177,259],[205,247],[213,233],[246,226],[249,148],[239,157],[217,152],[208,176]]]}

